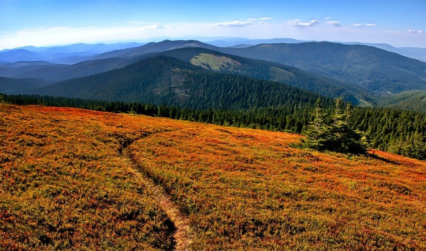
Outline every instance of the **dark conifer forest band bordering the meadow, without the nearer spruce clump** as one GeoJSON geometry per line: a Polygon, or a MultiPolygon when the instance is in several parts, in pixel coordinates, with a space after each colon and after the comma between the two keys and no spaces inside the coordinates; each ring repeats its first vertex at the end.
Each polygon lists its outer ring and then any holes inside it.
{"type": "MultiPolygon", "coordinates": [[[[76,107],[96,111],[130,112],[224,126],[303,133],[313,118],[315,106],[306,104],[249,109],[191,109],[177,106],[121,101],[101,101],[39,95],[0,94],[0,101],[17,105],[76,107]]],[[[333,114],[333,104],[321,103],[325,114],[333,114]]],[[[331,121],[332,117],[324,117],[331,121]]],[[[375,149],[426,159],[426,114],[389,108],[355,108],[350,116],[353,129],[364,132],[375,149]]]]}

